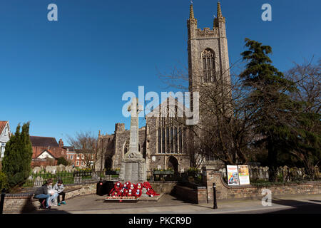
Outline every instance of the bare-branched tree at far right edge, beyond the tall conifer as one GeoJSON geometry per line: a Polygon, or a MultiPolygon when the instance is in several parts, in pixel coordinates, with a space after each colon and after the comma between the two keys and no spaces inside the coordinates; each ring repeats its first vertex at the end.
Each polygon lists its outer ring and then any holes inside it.
{"type": "Polygon", "coordinates": [[[320,95],[321,95],[321,59],[317,64],[305,60],[302,64],[287,71],[287,78],[295,81],[297,90],[291,93],[293,100],[302,105],[297,113],[297,121],[293,123],[295,138],[291,154],[303,162],[307,173],[316,177],[316,167],[320,165],[320,95]]]}

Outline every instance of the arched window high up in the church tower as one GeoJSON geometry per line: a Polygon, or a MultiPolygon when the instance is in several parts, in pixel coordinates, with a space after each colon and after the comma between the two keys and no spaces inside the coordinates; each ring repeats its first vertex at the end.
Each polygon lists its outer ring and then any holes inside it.
{"type": "Polygon", "coordinates": [[[203,61],[203,82],[215,81],[215,53],[210,48],[205,49],[202,53],[203,61]]]}

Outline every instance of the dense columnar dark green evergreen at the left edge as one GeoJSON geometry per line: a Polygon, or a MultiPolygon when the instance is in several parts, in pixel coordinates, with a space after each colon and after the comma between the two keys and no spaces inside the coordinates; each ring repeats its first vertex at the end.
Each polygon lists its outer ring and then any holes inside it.
{"type": "Polygon", "coordinates": [[[32,145],[29,138],[29,125],[18,125],[16,133],[6,143],[2,171],[8,177],[9,188],[20,187],[26,182],[31,171],[32,145]]]}

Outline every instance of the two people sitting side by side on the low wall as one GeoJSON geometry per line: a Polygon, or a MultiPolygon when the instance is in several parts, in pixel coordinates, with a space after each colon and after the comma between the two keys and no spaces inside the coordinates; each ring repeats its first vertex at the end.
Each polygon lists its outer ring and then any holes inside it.
{"type": "Polygon", "coordinates": [[[63,201],[62,204],[66,204],[65,202],[65,192],[63,192],[63,183],[61,180],[59,180],[54,187],[52,187],[52,180],[49,179],[45,182],[44,185],[39,187],[38,190],[34,193],[34,197],[36,199],[39,199],[41,202],[41,208],[43,209],[50,209],[51,208],[51,202],[54,201],[55,198],[57,198],[58,206],[60,206],[60,196],[62,195],[63,201]],[[45,204],[46,202],[46,204],[45,204]]]}

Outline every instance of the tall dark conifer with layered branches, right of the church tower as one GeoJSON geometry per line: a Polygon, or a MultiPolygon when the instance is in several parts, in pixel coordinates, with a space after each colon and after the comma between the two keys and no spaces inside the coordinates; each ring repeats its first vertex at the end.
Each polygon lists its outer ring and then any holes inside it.
{"type": "Polygon", "coordinates": [[[240,74],[243,83],[250,89],[248,108],[253,110],[253,130],[260,135],[259,144],[268,151],[270,181],[276,180],[277,167],[282,153],[290,153],[290,138],[293,137],[291,124],[294,118],[292,110],[297,103],[288,93],[295,90],[295,83],[285,79],[282,72],[272,66],[268,54],[270,46],[245,38],[248,51],[241,53],[247,61],[246,69],[240,74]]]}

